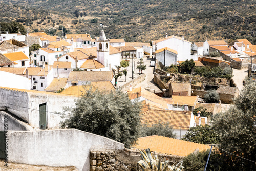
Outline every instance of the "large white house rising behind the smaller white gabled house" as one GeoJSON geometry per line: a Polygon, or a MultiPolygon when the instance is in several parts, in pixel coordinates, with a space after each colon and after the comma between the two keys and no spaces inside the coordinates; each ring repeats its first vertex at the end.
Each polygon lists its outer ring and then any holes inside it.
{"type": "Polygon", "coordinates": [[[167,36],[157,40],[154,43],[153,46],[153,52],[163,49],[163,48],[170,48],[175,51],[177,51],[177,61],[185,61],[192,59],[193,56],[191,56],[191,42],[184,39],[184,36],[179,37],[176,35],[167,36]],[[155,49],[155,51],[154,51],[155,49]]]}

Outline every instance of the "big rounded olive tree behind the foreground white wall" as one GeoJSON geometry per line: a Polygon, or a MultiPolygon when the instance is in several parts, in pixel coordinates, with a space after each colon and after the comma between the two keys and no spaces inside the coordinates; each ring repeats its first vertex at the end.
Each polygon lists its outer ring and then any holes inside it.
{"type": "Polygon", "coordinates": [[[139,137],[141,103],[122,91],[85,91],[61,127],[76,128],[108,137],[130,148],[139,137]]]}

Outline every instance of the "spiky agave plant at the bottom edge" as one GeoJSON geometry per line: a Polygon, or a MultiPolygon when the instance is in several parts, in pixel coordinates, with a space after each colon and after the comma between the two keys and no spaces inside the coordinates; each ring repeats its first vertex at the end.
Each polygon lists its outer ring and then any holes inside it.
{"type": "Polygon", "coordinates": [[[166,160],[165,162],[161,162],[157,155],[153,155],[150,151],[150,149],[146,149],[146,151],[140,151],[140,156],[142,160],[137,162],[137,168],[140,166],[143,171],[147,170],[157,170],[157,171],[181,171],[183,170],[182,162],[179,162],[174,166],[174,164],[171,166],[169,163],[171,161],[166,160]]]}

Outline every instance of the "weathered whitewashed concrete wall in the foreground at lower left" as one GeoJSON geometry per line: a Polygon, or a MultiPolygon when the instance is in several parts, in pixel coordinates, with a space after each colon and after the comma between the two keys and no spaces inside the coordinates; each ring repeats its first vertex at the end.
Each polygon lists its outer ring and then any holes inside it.
{"type": "Polygon", "coordinates": [[[90,170],[90,149],[124,149],[124,144],[76,129],[9,131],[8,160],[90,170]]]}

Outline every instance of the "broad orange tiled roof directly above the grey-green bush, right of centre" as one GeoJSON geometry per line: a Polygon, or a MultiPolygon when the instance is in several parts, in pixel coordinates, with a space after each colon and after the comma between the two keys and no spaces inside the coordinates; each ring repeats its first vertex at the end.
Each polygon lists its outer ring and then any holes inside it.
{"type": "Polygon", "coordinates": [[[141,116],[141,123],[148,126],[168,123],[173,129],[188,130],[191,122],[191,111],[155,110],[146,111],[141,116]]]}

